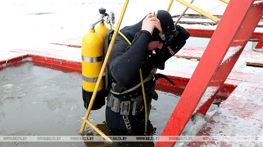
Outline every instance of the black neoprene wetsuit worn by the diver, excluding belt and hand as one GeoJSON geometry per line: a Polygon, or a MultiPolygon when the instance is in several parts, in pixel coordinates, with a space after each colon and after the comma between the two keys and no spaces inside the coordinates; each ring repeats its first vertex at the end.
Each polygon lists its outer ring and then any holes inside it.
{"type": "MultiPolygon", "coordinates": [[[[174,30],[172,17],[167,11],[159,10],[158,19],[161,21],[161,27],[163,28],[163,30],[164,28],[169,28],[169,25],[171,26],[170,30],[174,30]],[[162,15],[162,13],[164,15],[162,15]],[[167,18],[162,17],[166,16],[167,14],[169,15],[167,18]],[[167,20],[170,22],[169,25],[162,23],[163,21],[167,20]],[[165,26],[162,24],[164,24],[165,26]]],[[[156,41],[156,34],[158,34],[159,31],[157,29],[154,29],[153,35],[151,35],[150,32],[141,30],[143,20],[144,18],[137,24],[126,26],[122,30],[120,30],[128,38],[129,41],[132,41],[132,44],[129,45],[124,39],[120,39],[120,35],[118,34],[107,64],[109,76],[112,77],[111,82],[118,82],[119,84],[124,85],[127,89],[130,89],[141,82],[139,74],[140,68],[142,70],[143,79],[145,79],[154,67],[163,70],[164,62],[173,56],[169,55],[168,57],[161,57],[162,54],[164,54],[163,51],[168,50],[167,46],[165,45],[163,45],[162,49],[157,49],[156,54],[154,54],[150,50],[147,50],[148,44],[151,41],[156,41]],[[160,68],[159,66],[161,62],[163,65],[160,68]]],[[[177,46],[173,49],[175,53],[179,51],[186,43],[186,39],[182,36],[186,36],[187,39],[189,37],[188,31],[184,29],[178,33],[176,41],[174,41],[178,42],[177,46]]],[[[154,88],[155,82],[153,80],[150,80],[149,82],[146,82],[145,85],[151,85],[151,88],[154,88]]],[[[120,98],[121,101],[130,99],[131,97],[126,97],[125,99],[120,98]]],[[[118,132],[124,131],[124,133],[126,132],[128,134],[133,134],[140,131],[143,132],[144,129],[142,128],[144,128],[144,122],[144,109],[139,115],[133,116],[130,113],[128,116],[123,116],[120,114],[120,112],[115,113],[111,110],[110,107],[106,106],[106,123],[111,130],[115,130],[118,132]]]]}

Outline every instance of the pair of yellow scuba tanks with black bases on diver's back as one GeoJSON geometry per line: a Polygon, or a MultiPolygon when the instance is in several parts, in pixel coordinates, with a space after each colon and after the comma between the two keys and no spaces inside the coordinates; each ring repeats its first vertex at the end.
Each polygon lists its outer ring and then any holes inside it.
{"type": "MultiPolygon", "coordinates": [[[[91,100],[93,91],[99,77],[100,70],[103,64],[104,57],[104,41],[109,28],[104,24],[104,14],[106,9],[100,8],[99,13],[101,18],[90,24],[89,33],[82,39],[82,98],[84,107],[87,109],[91,100]],[[100,23],[99,23],[100,22],[100,23]],[[94,26],[99,23],[99,26],[94,29],[94,26]]],[[[92,110],[100,109],[105,105],[105,97],[107,92],[104,90],[103,80],[100,82],[92,110]]]]}

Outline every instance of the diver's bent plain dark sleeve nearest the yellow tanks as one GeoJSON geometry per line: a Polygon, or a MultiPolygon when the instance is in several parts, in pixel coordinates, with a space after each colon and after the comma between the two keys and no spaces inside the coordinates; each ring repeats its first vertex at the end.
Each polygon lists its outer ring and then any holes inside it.
{"type": "Polygon", "coordinates": [[[122,41],[115,42],[108,65],[109,74],[118,83],[128,85],[132,81],[141,68],[150,41],[150,32],[141,30],[130,46],[122,41]]]}

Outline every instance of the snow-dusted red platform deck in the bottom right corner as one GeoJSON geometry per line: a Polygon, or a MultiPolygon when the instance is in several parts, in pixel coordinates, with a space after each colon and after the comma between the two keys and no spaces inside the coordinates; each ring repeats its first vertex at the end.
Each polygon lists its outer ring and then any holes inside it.
{"type": "MultiPolygon", "coordinates": [[[[203,128],[204,136],[260,136],[263,90],[239,84],[203,128]]],[[[200,134],[199,134],[200,135],[200,134]]],[[[262,146],[262,142],[214,142],[214,146],[262,146]],[[240,144],[240,145],[239,145],[240,144]]]]}

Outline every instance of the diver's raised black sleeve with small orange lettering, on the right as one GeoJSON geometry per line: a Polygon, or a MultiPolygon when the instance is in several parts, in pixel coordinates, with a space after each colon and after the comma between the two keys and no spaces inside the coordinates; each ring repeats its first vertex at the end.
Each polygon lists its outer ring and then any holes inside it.
{"type": "Polygon", "coordinates": [[[155,49],[154,67],[164,70],[164,63],[174,54],[176,54],[186,43],[189,38],[189,32],[180,25],[175,26],[177,35],[169,43],[165,42],[162,49],[155,49]]]}

